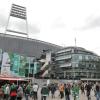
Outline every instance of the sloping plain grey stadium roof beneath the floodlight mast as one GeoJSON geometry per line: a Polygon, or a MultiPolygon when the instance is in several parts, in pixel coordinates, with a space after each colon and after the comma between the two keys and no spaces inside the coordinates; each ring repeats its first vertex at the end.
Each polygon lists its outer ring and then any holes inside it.
{"type": "Polygon", "coordinates": [[[0,33],[0,49],[5,52],[14,52],[24,56],[39,57],[43,50],[53,52],[63,47],[48,42],[0,33]]]}

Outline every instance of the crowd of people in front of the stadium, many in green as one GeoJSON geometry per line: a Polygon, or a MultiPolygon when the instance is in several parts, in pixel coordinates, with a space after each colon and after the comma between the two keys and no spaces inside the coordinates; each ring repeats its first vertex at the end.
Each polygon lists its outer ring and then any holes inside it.
{"type": "Polygon", "coordinates": [[[59,91],[59,98],[65,100],[71,100],[70,95],[73,96],[74,100],[80,100],[79,92],[82,95],[86,95],[87,100],[91,100],[91,91],[94,91],[96,100],[100,100],[100,83],[50,83],[49,85],[44,84],[42,87],[38,83],[27,83],[27,84],[4,84],[0,86],[0,100],[38,100],[39,88],[41,94],[41,100],[47,100],[47,97],[51,94],[51,100],[55,98],[55,92],[59,91]]]}

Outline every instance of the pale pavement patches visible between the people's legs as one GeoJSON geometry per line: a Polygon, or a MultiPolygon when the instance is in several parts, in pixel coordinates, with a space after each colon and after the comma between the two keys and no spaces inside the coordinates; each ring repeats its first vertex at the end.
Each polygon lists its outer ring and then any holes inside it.
{"type": "MultiPolygon", "coordinates": [[[[23,100],[25,100],[25,98],[23,98],[23,100]]],[[[32,100],[31,98],[29,98],[29,100],[32,100]]],[[[41,94],[40,94],[40,90],[38,91],[38,100],[41,100],[41,94]]],[[[59,97],[59,91],[55,92],[55,98],[52,99],[51,94],[47,97],[47,100],[65,100],[65,98],[60,99],[59,97]]],[[[70,100],[74,100],[72,95],[70,95],[70,100]]],[[[79,94],[79,98],[77,100],[87,100],[87,97],[85,94],[79,94]]],[[[95,96],[94,96],[94,92],[91,91],[91,100],[96,100],[95,96]]]]}

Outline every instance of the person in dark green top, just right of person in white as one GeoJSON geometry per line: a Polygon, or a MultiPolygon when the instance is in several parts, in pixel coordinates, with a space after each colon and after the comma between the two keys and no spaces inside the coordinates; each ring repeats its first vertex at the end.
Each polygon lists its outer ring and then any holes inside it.
{"type": "Polygon", "coordinates": [[[43,85],[41,89],[41,100],[46,100],[49,95],[49,89],[46,84],[43,85]]]}

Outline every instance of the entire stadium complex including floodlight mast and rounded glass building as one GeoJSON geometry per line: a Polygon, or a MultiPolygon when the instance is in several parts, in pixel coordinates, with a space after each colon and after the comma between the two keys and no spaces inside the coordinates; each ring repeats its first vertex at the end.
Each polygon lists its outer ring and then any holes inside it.
{"type": "Polygon", "coordinates": [[[0,33],[1,75],[23,77],[48,75],[62,79],[100,78],[98,55],[76,46],[63,48],[31,39],[28,37],[27,26],[26,8],[12,4],[6,31],[0,33]],[[10,17],[25,21],[26,32],[9,28],[10,17]],[[14,34],[24,35],[24,37],[14,34]]]}

